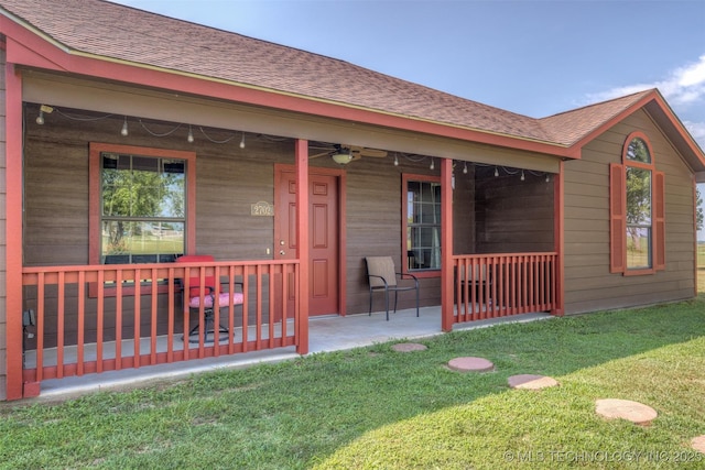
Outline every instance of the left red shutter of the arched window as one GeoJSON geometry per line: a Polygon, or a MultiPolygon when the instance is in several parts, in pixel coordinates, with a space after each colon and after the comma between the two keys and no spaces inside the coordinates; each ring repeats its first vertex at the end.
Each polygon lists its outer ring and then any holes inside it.
{"type": "Polygon", "coordinates": [[[609,165],[609,272],[623,273],[627,265],[627,221],[625,218],[625,166],[609,165]]]}

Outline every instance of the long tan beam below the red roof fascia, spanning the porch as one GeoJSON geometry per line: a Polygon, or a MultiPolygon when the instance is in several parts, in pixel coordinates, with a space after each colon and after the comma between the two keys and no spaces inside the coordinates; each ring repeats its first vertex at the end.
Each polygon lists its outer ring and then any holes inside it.
{"type": "Polygon", "coordinates": [[[29,102],[557,173],[552,155],[26,69],[29,102]]]}

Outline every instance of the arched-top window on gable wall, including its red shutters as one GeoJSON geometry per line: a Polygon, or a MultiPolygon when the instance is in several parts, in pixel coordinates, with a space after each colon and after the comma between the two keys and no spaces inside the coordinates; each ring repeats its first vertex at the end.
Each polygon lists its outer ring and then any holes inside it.
{"type": "Polygon", "coordinates": [[[630,134],[622,163],[610,165],[610,272],[665,269],[664,175],[655,171],[646,135],[630,134]]]}

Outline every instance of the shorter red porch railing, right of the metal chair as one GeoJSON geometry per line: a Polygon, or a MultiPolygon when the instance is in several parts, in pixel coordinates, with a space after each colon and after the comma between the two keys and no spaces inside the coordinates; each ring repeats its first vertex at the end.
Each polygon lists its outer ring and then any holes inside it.
{"type": "Polygon", "coordinates": [[[454,255],[454,323],[555,310],[556,262],[556,253],[454,255]]]}

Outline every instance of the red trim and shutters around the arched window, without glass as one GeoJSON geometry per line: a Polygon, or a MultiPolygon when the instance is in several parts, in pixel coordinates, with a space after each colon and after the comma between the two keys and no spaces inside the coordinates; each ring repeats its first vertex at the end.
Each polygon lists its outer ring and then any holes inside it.
{"type": "Polygon", "coordinates": [[[610,273],[621,273],[625,276],[654,274],[665,270],[665,175],[658,172],[655,155],[649,138],[643,132],[631,132],[622,145],[621,164],[610,164],[610,273]],[[651,156],[650,163],[636,162],[627,157],[629,144],[634,139],[641,139],[651,156]],[[627,166],[649,170],[651,172],[651,267],[627,267],[627,166]]]}

